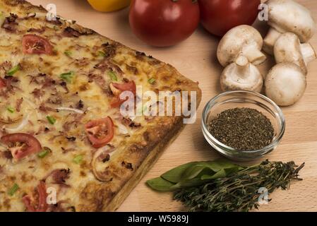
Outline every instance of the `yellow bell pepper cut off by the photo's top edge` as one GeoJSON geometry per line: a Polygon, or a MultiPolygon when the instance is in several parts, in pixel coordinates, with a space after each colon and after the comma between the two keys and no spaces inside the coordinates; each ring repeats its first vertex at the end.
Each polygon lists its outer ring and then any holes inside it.
{"type": "Polygon", "coordinates": [[[112,12],[125,8],[131,0],[88,0],[92,8],[101,12],[112,12]]]}

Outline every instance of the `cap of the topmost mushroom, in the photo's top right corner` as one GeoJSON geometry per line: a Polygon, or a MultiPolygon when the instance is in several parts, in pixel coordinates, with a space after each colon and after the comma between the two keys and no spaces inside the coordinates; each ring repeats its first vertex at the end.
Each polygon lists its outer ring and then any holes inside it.
{"type": "Polygon", "coordinates": [[[293,32],[308,42],[316,32],[316,23],[307,8],[292,0],[268,0],[268,24],[278,32],[293,32]]]}

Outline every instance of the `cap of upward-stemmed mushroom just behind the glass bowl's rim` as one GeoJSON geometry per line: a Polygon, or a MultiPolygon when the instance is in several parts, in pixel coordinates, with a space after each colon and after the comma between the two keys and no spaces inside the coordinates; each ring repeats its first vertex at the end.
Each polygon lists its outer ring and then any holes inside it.
{"type": "Polygon", "coordinates": [[[260,93],[263,88],[263,76],[253,64],[241,69],[236,63],[229,64],[220,77],[223,91],[250,90],[260,93]]]}

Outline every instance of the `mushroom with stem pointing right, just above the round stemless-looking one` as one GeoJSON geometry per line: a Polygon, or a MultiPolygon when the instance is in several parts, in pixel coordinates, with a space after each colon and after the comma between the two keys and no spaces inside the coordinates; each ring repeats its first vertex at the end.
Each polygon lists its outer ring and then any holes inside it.
{"type": "Polygon", "coordinates": [[[277,64],[289,62],[297,64],[307,73],[307,64],[316,59],[316,53],[311,44],[301,44],[294,33],[287,32],[281,35],[275,42],[274,56],[277,64]]]}

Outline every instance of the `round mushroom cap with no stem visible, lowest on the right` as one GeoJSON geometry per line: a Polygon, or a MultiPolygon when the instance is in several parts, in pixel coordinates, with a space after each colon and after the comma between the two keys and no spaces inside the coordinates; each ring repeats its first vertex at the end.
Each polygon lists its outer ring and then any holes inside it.
{"type": "Polygon", "coordinates": [[[293,63],[277,64],[265,78],[265,94],[277,105],[294,105],[304,95],[306,76],[293,63]]]}

